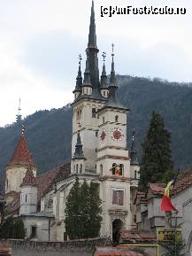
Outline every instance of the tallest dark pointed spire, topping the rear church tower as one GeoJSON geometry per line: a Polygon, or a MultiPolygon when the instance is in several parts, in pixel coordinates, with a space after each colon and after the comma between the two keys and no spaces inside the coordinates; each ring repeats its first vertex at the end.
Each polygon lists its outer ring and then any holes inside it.
{"type": "Polygon", "coordinates": [[[95,89],[99,88],[98,49],[96,46],[96,22],[95,22],[94,1],[92,1],[89,34],[88,34],[88,66],[90,81],[95,89]]]}

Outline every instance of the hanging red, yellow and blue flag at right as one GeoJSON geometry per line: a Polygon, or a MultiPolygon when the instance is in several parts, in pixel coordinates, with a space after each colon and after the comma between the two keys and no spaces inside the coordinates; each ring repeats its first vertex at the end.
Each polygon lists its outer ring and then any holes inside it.
{"type": "Polygon", "coordinates": [[[174,177],[171,182],[168,182],[165,191],[164,191],[164,197],[161,201],[161,211],[162,212],[172,212],[176,211],[177,209],[173,206],[170,198],[170,187],[174,185],[177,182],[177,177],[174,177]]]}

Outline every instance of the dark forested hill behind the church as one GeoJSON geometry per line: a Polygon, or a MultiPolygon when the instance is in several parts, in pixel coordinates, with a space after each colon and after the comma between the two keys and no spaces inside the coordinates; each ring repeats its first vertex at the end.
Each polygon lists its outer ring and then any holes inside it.
{"type": "MultiPolygon", "coordinates": [[[[141,143],[149,126],[150,114],[159,112],[172,136],[175,167],[192,165],[192,85],[131,76],[118,76],[119,99],[130,112],[127,116],[127,142],[132,128],[141,156],[141,143]]],[[[71,158],[72,109],[38,111],[24,120],[26,137],[38,172],[50,170],[71,158]]],[[[0,128],[0,170],[12,156],[19,140],[20,126],[13,123],[0,128]]]]}

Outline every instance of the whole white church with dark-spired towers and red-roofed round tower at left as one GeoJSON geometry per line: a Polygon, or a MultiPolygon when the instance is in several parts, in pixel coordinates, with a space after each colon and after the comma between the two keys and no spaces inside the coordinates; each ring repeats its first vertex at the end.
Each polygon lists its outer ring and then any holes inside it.
{"type": "MultiPolygon", "coordinates": [[[[65,202],[75,177],[95,182],[102,200],[100,237],[114,238],[119,229],[134,223],[134,196],[139,181],[139,163],[134,145],[127,149],[127,112],[118,98],[112,45],[110,81],[98,68],[96,23],[92,2],[87,59],[81,72],[81,56],[73,89],[72,159],[42,175],[37,175],[27,146],[25,129],[7,164],[5,201],[8,216],[21,216],[27,238],[37,241],[64,241],[65,202]]],[[[103,54],[105,59],[105,54],[103,54]]]]}

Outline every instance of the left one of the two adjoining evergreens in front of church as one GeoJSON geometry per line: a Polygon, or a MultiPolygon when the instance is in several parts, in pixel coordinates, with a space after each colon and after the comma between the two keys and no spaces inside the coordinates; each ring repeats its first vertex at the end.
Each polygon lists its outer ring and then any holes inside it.
{"type": "Polygon", "coordinates": [[[76,177],[73,187],[66,198],[65,206],[65,230],[70,239],[81,237],[81,196],[80,181],[76,177]]]}

